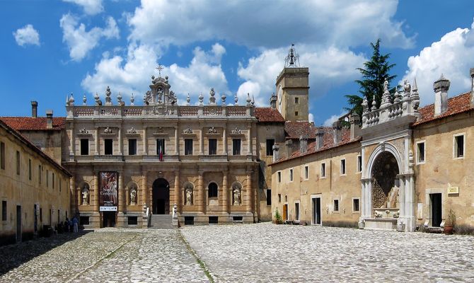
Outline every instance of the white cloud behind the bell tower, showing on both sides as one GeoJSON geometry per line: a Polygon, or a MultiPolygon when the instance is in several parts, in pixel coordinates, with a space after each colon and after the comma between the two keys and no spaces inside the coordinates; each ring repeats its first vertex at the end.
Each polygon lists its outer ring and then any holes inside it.
{"type": "MultiPolygon", "coordinates": [[[[367,60],[362,54],[336,47],[322,49],[297,45],[297,48],[301,65],[309,67],[311,72],[310,102],[323,96],[333,86],[357,79],[359,72],[356,68],[367,60]]],[[[275,91],[274,83],[284,67],[283,58],[287,52],[287,48],[265,50],[258,57],[250,58],[246,67],[239,64],[238,76],[245,80],[237,91],[239,99],[245,98],[249,92],[255,95],[257,105],[267,105],[275,91]]]]}

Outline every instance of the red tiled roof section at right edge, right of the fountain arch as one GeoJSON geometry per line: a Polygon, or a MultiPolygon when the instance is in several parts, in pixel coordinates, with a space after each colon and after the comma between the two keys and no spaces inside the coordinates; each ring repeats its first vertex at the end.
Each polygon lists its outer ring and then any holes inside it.
{"type": "Polygon", "coordinates": [[[420,112],[421,117],[415,123],[413,123],[413,126],[431,122],[444,117],[449,117],[462,112],[467,112],[469,110],[473,110],[473,108],[470,107],[470,92],[467,92],[459,96],[449,98],[448,110],[437,117],[434,117],[434,104],[426,105],[420,108],[418,111],[420,112]]]}

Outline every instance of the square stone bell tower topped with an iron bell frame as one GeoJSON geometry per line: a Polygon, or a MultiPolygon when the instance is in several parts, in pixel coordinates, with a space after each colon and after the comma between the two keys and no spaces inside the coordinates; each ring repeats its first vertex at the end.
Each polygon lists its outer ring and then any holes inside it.
{"type": "Polygon", "coordinates": [[[277,109],[287,121],[308,121],[309,69],[299,67],[294,44],[277,77],[277,109]]]}

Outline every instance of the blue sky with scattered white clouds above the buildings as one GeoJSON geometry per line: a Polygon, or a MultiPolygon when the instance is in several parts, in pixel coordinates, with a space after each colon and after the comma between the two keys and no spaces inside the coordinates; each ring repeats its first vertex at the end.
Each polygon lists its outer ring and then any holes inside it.
{"type": "Polygon", "coordinates": [[[470,88],[474,1],[0,1],[0,115],[65,115],[68,93],[141,104],[162,64],[180,103],[209,88],[268,105],[274,79],[295,43],[310,68],[310,112],[328,124],[357,93],[357,67],[381,38],[398,80],[416,76],[422,105],[432,83],[451,80],[450,96],[470,88]]]}

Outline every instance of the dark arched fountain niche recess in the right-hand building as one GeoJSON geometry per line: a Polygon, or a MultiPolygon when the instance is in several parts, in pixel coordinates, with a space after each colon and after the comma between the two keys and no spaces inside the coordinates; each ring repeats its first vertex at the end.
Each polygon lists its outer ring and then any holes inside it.
{"type": "MultiPolygon", "coordinates": [[[[390,210],[398,208],[400,185],[396,177],[399,173],[398,162],[391,152],[383,151],[378,154],[371,168],[371,197],[374,209],[383,208],[390,210]]],[[[396,212],[394,210],[394,213],[396,212]]]]}

